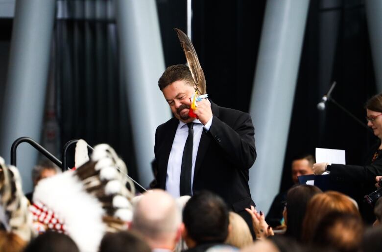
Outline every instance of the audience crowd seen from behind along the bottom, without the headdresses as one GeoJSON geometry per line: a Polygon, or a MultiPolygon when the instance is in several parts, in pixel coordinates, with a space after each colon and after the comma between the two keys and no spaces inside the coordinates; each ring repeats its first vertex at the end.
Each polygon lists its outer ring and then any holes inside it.
{"type": "MultiPolygon", "coordinates": [[[[376,222],[367,226],[355,200],[337,191],[295,185],[287,191],[285,228],[278,232],[262,211],[246,209],[256,239],[239,214],[209,191],[173,198],[154,189],[132,200],[133,217],[125,230],[105,232],[99,252],[377,252],[382,250],[382,198],[376,222]]],[[[87,223],[83,223],[87,225],[87,223]]],[[[87,234],[90,238],[92,232],[87,234]]],[[[13,231],[0,232],[2,252],[81,251],[70,233],[46,231],[30,242],[13,231]]]]}

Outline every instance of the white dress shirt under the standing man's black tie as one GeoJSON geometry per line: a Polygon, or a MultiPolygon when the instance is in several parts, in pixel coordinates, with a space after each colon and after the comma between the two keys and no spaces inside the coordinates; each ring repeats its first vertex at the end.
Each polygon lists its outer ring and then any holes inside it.
{"type": "MultiPolygon", "coordinates": [[[[205,130],[210,130],[212,124],[212,118],[207,122],[205,126],[195,119],[193,123],[193,145],[192,145],[192,169],[191,169],[191,192],[193,184],[193,172],[195,170],[196,155],[198,153],[200,138],[202,136],[203,128],[205,130]]],[[[182,168],[182,157],[183,150],[186,144],[187,137],[189,135],[189,127],[186,123],[179,121],[179,125],[176,128],[176,133],[174,137],[174,142],[172,142],[172,147],[170,151],[170,156],[168,157],[167,164],[167,175],[166,175],[166,190],[175,198],[179,198],[179,181],[180,181],[180,170],[182,168]]]]}

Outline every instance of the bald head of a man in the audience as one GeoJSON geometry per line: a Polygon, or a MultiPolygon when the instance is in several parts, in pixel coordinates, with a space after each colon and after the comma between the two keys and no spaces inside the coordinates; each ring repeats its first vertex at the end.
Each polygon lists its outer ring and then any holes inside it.
{"type": "Polygon", "coordinates": [[[152,249],[172,250],[180,239],[181,211],[164,190],[146,192],[133,214],[132,229],[143,235],[152,249]]]}

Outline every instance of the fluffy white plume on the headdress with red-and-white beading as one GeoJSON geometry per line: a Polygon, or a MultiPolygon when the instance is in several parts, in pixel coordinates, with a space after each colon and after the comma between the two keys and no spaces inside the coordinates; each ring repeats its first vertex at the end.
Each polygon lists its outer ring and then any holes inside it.
{"type": "Polygon", "coordinates": [[[41,180],[34,202],[42,202],[64,220],[66,231],[81,252],[98,251],[106,231],[102,222],[104,210],[98,200],[87,193],[72,171],[41,180]]]}

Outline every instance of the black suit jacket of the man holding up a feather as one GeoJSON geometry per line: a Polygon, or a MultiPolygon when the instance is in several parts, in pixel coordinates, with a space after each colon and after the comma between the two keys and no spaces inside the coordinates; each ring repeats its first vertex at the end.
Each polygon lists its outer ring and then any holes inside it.
{"type": "MultiPolygon", "coordinates": [[[[209,131],[203,130],[196,156],[192,190],[210,190],[220,195],[236,212],[254,204],[249,191],[248,169],[256,159],[254,127],[248,113],[211,102],[209,131]]],[[[157,187],[165,189],[167,163],[179,121],[158,126],[155,133],[157,187]]]]}

